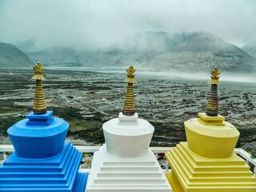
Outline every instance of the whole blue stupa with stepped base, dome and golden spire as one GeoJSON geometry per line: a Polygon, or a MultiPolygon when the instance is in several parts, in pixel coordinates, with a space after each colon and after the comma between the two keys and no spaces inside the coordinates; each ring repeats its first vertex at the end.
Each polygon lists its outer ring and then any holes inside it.
{"type": "Polygon", "coordinates": [[[65,142],[69,123],[46,108],[42,69],[34,66],[33,112],[7,130],[15,152],[0,166],[0,191],[85,191],[82,153],[65,142]]]}

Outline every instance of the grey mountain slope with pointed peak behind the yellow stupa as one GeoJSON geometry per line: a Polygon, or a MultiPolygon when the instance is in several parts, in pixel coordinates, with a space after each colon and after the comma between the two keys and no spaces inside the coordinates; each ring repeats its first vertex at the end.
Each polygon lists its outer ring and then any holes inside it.
{"type": "Polygon", "coordinates": [[[163,69],[208,71],[214,66],[227,72],[251,72],[256,60],[235,45],[207,32],[192,34],[171,51],[158,55],[148,62],[159,62],[163,69]]]}

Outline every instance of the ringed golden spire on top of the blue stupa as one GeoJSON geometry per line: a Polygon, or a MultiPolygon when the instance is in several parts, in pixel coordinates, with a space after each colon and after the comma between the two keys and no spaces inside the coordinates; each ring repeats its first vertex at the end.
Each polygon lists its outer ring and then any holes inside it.
{"type": "Polygon", "coordinates": [[[42,80],[45,80],[45,77],[42,75],[42,70],[44,69],[39,62],[34,68],[34,76],[31,78],[32,80],[36,80],[36,87],[34,93],[34,104],[33,104],[33,112],[36,114],[42,114],[47,111],[46,104],[45,104],[45,94],[42,89],[42,80]]]}

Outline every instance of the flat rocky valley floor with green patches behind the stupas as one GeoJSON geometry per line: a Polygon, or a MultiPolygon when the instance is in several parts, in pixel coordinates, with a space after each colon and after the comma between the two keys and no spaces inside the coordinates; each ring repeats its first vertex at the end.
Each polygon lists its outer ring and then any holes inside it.
{"type": "MultiPolygon", "coordinates": [[[[10,143],[6,130],[31,110],[32,70],[0,72],[0,143],[10,143]]],[[[102,123],[118,117],[124,104],[124,73],[45,70],[48,110],[70,124],[68,139],[76,145],[101,145],[102,123]]],[[[225,74],[222,74],[222,77],[225,74]]],[[[154,125],[151,146],[175,146],[186,140],[184,121],[205,110],[208,80],[137,75],[136,109],[154,125]]],[[[256,86],[249,82],[219,85],[219,113],[241,133],[237,147],[256,154],[256,86]]]]}

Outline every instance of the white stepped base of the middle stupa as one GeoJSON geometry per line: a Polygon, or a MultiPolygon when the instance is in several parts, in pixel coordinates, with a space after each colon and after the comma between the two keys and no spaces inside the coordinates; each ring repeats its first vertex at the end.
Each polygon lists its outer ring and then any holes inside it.
{"type": "Polygon", "coordinates": [[[94,153],[86,192],[170,192],[157,158],[148,149],[141,158],[115,158],[106,146],[94,153]]]}

